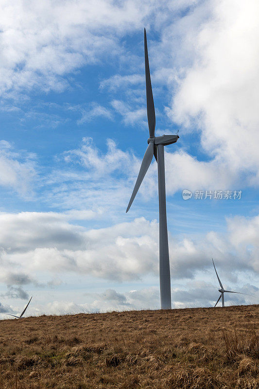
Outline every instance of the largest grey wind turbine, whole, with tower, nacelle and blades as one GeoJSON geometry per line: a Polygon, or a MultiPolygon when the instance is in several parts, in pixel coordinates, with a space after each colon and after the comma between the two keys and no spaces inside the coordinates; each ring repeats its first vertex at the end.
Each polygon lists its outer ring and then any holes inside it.
{"type": "Polygon", "coordinates": [[[137,195],[143,178],[151,164],[153,155],[157,161],[158,170],[158,199],[159,199],[159,279],[160,279],[160,300],[161,309],[171,309],[171,279],[170,279],[170,263],[168,250],[168,233],[166,219],[166,188],[165,188],[165,159],[164,146],[175,143],[178,135],[163,135],[155,137],[155,106],[153,100],[146,29],[144,29],[144,50],[145,50],[145,73],[146,73],[146,96],[147,96],[147,117],[149,127],[148,147],[143,157],[138,178],[133,189],[129,205],[126,212],[137,195]]]}

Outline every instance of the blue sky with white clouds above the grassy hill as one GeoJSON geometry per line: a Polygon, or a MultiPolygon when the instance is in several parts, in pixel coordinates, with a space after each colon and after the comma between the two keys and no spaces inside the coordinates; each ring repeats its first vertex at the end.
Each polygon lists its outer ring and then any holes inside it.
{"type": "Polygon", "coordinates": [[[258,303],[258,1],[0,5],[0,317],[160,306],[144,27],[173,308],[258,303]]]}

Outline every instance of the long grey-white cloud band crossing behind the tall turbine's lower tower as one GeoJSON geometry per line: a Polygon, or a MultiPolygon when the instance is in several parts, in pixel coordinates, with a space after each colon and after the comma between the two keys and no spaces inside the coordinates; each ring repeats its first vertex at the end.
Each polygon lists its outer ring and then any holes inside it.
{"type": "MultiPolygon", "coordinates": [[[[193,279],[198,271],[211,271],[211,256],[224,274],[223,284],[236,283],[247,272],[258,275],[258,220],[259,216],[239,217],[236,228],[236,218],[228,219],[225,234],[210,231],[181,240],[169,236],[172,279],[193,279]]],[[[62,213],[21,212],[0,214],[0,221],[1,283],[37,285],[37,277],[43,273],[52,279],[69,272],[112,281],[158,276],[155,220],[141,217],[107,228],[86,229],[69,223],[62,213]]]]}

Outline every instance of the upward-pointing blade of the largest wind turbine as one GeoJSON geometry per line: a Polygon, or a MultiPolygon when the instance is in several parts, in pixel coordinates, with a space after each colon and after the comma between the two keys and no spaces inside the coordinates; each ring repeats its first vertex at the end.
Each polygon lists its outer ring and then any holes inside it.
{"type": "Polygon", "coordinates": [[[144,48],[145,48],[145,73],[146,73],[148,128],[149,128],[149,136],[152,138],[155,136],[155,106],[154,106],[154,99],[153,99],[151,79],[150,79],[146,29],[144,29],[144,48]]]}

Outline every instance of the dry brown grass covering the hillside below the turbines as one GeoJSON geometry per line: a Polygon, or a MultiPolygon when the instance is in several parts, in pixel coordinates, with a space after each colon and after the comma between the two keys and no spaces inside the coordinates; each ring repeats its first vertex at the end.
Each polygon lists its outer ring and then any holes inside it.
{"type": "Polygon", "coordinates": [[[259,388],[259,305],[0,321],[1,389],[259,388]]]}

